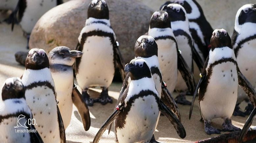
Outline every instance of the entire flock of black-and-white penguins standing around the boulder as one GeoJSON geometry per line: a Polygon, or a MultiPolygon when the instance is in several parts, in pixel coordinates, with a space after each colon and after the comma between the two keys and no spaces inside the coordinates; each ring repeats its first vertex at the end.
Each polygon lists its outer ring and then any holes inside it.
{"type": "MultiPolygon", "coordinates": [[[[44,0],[36,8],[43,10],[31,13],[31,5],[36,1],[9,1],[1,3],[0,9],[13,10],[6,21],[12,27],[15,21],[19,22],[28,40],[40,12],[63,3],[44,0]]],[[[222,28],[212,29],[195,0],[167,1],[148,17],[149,29],[135,41],[135,58],[127,64],[111,27],[109,12],[105,0],[90,2],[75,50],[59,46],[48,55],[39,48],[28,52],[24,73],[20,78],[8,78],[2,87],[0,142],[65,143],[73,104],[84,130],[88,131],[88,106],[96,102],[113,103],[108,89],[115,69],[123,80],[122,88],[113,113],[93,143],[99,142],[107,129],[110,133],[113,123],[116,142],[156,143],[154,133],[161,114],[168,118],[180,138],[185,138],[181,120],[184,117],[177,103],[190,105],[190,119],[197,95],[205,133],[238,131],[238,142],[243,141],[256,117],[256,4],[246,4],[237,11],[230,37],[222,28]],[[201,71],[198,83],[194,80],[193,63],[201,71]],[[82,93],[74,84],[74,76],[82,93]],[[102,88],[98,98],[90,97],[91,87],[102,88]],[[174,91],[178,93],[175,98],[174,91]],[[192,102],[186,99],[187,95],[193,96],[192,102]],[[245,112],[239,107],[242,101],[248,102],[245,112]],[[242,131],[232,124],[232,115],[249,115],[242,131]],[[212,126],[214,118],[224,120],[222,129],[212,126]],[[31,124],[33,119],[37,124],[31,124]],[[36,132],[17,133],[24,128],[36,132]]]]}

